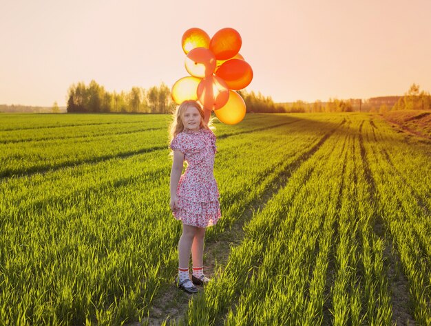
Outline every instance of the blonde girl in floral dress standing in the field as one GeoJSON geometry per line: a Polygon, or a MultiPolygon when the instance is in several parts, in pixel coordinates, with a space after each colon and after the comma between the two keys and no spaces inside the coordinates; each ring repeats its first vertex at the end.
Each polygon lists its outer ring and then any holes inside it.
{"type": "Polygon", "coordinates": [[[174,162],[169,206],[174,217],[182,221],[176,285],[188,293],[198,292],[193,284],[209,282],[202,267],[205,228],[215,225],[220,218],[218,188],[213,175],[215,135],[208,122],[209,114],[204,114],[198,102],[187,100],[176,109],[171,124],[170,148],[174,152],[174,162]],[[187,168],[181,175],[184,161],[187,168]],[[190,252],[193,262],[191,281],[190,252]]]}

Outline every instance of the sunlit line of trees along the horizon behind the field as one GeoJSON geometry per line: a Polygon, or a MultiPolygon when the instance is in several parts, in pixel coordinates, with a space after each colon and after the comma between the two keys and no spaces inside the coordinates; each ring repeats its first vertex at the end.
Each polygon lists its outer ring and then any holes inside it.
{"type": "MultiPolygon", "coordinates": [[[[330,98],[327,102],[275,103],[271,96],[264,96],[260,92],[241,90],[238,93],[246,103],[247,112],[256,113],[305,113],[305,112],[352,112],[370,111],[384,113],[390,110],[431,109],[431,96],[428,92],[420,91],[419,85],[413,84],[404,96],[386,96],[360,100],[350,98],[339,100],[330,98]],[[375,102],[381,99],[388,103],[375,102]],[[393,104],[395,103],[395,104],[393,104]]],[[[171,92],[165,83],[149,89],[132,87],[130,91],[116,91],[110,93],[96,81],[89,85],[77,83],[68,91],[67,112],[115,112],[115,113],[171,113],[176,103],[171,99],[171,92]]],[[[57,111],[57,110],[56,110],[57,111]]],[[[54,112],[54,109],[53,109],[54,112]]]]}

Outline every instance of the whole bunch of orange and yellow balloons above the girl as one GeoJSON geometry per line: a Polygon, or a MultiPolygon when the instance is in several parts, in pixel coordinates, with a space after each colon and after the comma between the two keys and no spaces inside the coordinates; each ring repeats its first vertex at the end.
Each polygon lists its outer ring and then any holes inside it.
{"type": "Polygon", "coordinates": [[[178,104],[198,100],[205,110],[213,110],[221,122],[241,122],[246,107],[236,91],[251,83],[253,70],[239,53],[240,34],[233,28],[223,28],[210,39],[200,28],[190,28],[182,35],[181,43],[190,76],[176,81],[171,89],[172,99],[178,104]]]}

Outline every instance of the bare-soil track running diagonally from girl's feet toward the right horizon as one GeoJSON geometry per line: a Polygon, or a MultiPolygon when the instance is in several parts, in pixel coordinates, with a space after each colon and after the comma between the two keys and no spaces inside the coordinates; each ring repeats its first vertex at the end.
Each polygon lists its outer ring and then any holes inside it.
{"type": "MultiPolygon", "coordinates": [[[[284,124],[289,123],[293,122],[288,122],[284,124]]],[[[242,213],[238,219],[235,219],[229,229],[224,229],[222,233],[218,234],[218,239],[208,239],[206,241],[204,248],[204,257],[217,256],[218,265],[225,266],[229,259],[229,252],[231,248],[239,246],[240,243],[242,243],[242,239],[244,238],[243,226],[244,224],[246,224],[247,221],[251,219],[251,217],[253,217],[253,213],[255,211],[262,210],[262,208],[266,206],[269,200],[286,186],[291,175],[293,175],[293,173],[295,173],[297,169],[299,169],[302,164],[304,164],[307,160],[310,160],[311,157],[320,149],[320,147],[323,146],[326,140],[328,140],[328,138],[333,135],[333,133],[335,133],[335,131],[344,123],[346,123],[346,119],[344,119],[340,124],[338,124],[337,127],[323,135],[319,142],[312,146],[311,149],[308,149],[308,151],[305,151],[302,155],[300,155],[297,160],[291,162],[291,164],[286,164],[285,166],[283,166],[280,173],[273,176],[273,180],[269,184],[269,187],[262,193],[262,195],[249,202],[246,210],[244,210],[244,213],[242,213]],[[222,239],[221,241],[220,238],[222,239]],[[220,252],[224,253],[222,257],[220,257],[220,252]]],[[[309,171],[307,171],[303,179],[304,184],[311,177],[313,171],[314,168],[311,168],[309,171]]],[[[255,268],[258,267],[259,266],[256,264],[255,268]]],[[[205,262],[205,268],[207,268],[208,270],[214,270],[215,263],[207,259],[207,261],[205,262]]],[[[207,276],[211,276],[211,274],[208,273],[207,276]]],[[[164,289],[162,289],[162,291],[163,290],[164,289]]],[[[187,311],[187,307],[189,306],[189,300],[192,298],[192,296],[189,296],[188,294],[184,293],[180,293],[180,295],[179,291],[180,290],[176,288],[176,285],[172,284],[167,287],[165,292],[163,292],[162,294],[158,294],[158,296],[156,297],[156,301],[153,305],[151,305],[149,317],[145,318],[145,321],[147,321],[149,325],[160,325],[161,323],[163,323],[163,321],[167,319],[175,320],[176,322],[182,319],[185,316],[185,312],[187,311]],[[166,312],[163,309],[163,307],[167,305],[170,307],[169,312],[166,312]],[[167,315],[169,316],[168,318],[166,318],[167,315]]],[[[238,298],[236,299],[237,300],[231,303],[231,307],[233,309],[235,308],[235,305],[238,301],[238,298]]],[[[221,312],[221,315],[225,312],[226,311],[221,312]]],[[[132,326],[133,324],[128,325],[132,326]]]]}

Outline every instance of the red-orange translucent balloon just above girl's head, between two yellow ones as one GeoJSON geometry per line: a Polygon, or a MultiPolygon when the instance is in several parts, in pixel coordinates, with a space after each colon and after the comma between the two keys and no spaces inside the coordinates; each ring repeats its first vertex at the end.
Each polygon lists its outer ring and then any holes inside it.
{"type": "Polygon", "coordinates": [[[217,110],[227,103],[229,89],[222,78],[209,76],[199,83],[198,98],[204,109],[217,110]]]}

